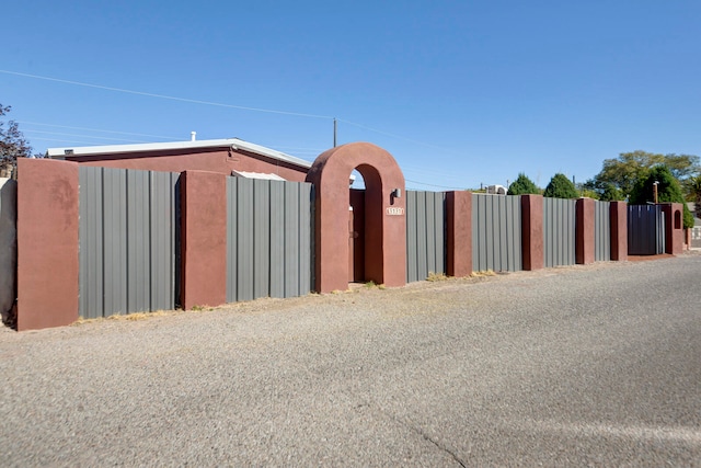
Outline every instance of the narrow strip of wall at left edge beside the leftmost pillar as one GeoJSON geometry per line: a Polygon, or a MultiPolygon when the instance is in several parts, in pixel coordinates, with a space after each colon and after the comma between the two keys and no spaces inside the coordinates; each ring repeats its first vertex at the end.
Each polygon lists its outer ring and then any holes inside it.
{"type": "Polygon", "coordinates": [[[2,319],[14,304],[18,255],[18,183],[0,178],[0,313],[2,319]]]}

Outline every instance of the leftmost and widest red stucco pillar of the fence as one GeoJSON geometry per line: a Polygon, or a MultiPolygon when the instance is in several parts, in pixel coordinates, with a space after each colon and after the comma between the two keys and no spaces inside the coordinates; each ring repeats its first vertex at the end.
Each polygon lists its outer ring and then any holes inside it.
{"type": "Polygon", "coordinates": [[[78,320],[78,164],[18,160],[18,330],[78,320]]]}

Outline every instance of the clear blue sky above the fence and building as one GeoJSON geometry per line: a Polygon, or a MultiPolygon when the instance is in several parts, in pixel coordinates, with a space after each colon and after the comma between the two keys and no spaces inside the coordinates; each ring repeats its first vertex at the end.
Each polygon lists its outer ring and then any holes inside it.
{"type": "Polygon", "coordinates": [[[696,0],[39,0],[2,23],[0,103],[42,152],[196,130],[311,161],[336,117],[338,144],[383,147],[409,189],[701,155],[696,0]]]}

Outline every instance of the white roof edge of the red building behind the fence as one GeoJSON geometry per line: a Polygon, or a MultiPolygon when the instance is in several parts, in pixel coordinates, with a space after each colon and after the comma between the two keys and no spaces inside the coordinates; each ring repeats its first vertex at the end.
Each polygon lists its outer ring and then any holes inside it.
{"type": "Polygon", "coordinates": [[[46,153],[49,158],[65,159],[67,156],[97,156],[114,155],[119,152],[142,152],[142,151],[163,151],[172,149],[196,149],[196,148],[217,148],[232,147],[232,149],[242,149],[268,158],[278,159],[280,161],[290,162],[292,164],[311,168],[311,162],[294,156],[244,141],[239,138],[222,138],[215,140],[195,140],[195,141],[170,141],[170,142],[147,142],[133,145],[104,145],[104,146],[77,146],[64,148],[48,148],[46,153]],[[70,152],[69,152],[70,151],[70,152]]]}

